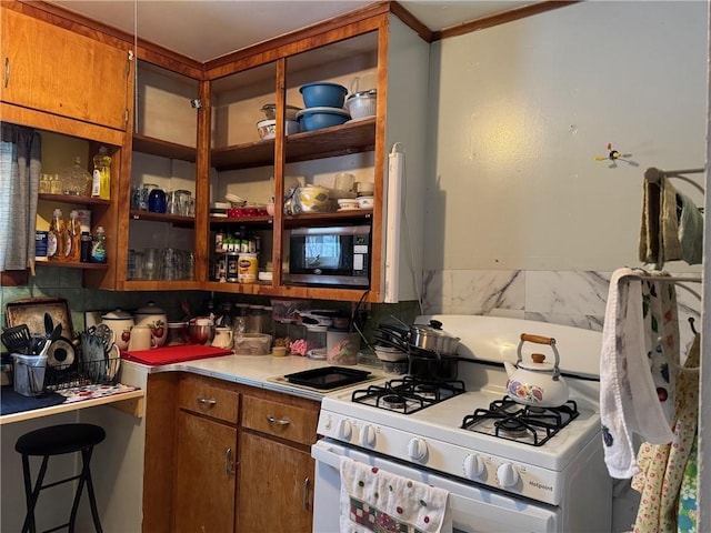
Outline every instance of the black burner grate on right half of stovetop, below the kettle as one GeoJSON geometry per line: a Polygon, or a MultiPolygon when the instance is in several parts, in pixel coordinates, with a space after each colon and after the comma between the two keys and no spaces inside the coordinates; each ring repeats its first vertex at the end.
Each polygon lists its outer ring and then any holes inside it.
{"type": "Polygon", "coordinates": [[[542,446],[579,414],[573,400],[558,408],[537,408],[503,398],[491,402],[489,409],[477,409],[473,414],[464,416],[461,428],[542,446]]]}

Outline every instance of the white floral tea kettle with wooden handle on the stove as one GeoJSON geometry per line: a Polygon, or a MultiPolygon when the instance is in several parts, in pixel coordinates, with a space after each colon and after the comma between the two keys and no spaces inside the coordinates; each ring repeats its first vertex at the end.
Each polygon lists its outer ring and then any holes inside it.
{"type": "Polygon", "coordinates": [[[555,339],[521,333],[517,364],[503,362],[509,375],[507,394],[518,403],[539,408],[558,408],[568,401],[569,390],[565,380],[560,375],[560,356],[555,349],[555,339]],[[555,363],[543,362],[545,355],[532,353],[531,360],[523,362],[521,348],[525,341],[537,344],[549,344],[555,355],[555,363]]]}

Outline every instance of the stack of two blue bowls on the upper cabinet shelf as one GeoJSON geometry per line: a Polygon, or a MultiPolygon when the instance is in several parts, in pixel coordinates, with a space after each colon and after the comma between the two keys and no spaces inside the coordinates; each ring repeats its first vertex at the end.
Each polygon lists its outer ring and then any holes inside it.
{"type": "Polygon", "coordinates": [[[348,89],[338,83],[308,83],[299,89],[306,109],[297,113],[301,131],[313,131],[347,122],[351,115],[343,109],[348,89]]]}

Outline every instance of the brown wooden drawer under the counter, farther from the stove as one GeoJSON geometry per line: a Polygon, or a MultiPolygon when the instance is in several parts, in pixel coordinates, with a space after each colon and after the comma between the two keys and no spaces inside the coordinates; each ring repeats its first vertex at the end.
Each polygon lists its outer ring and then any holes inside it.
{"type": "Polygon", "coordinates": [[[178,406],[194,413],[237,424],[239,393],[227,385],[200,378],[180,382],[178,406]]]}

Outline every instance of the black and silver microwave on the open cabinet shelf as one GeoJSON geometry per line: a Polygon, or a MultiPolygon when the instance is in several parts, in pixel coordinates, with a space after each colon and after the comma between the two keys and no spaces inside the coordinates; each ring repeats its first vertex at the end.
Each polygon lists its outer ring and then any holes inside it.
{"type": "Polygon", "coordinates": [[[370,286],[370,225],[294,228],[288,235],[287,283],[370,286]]]}

